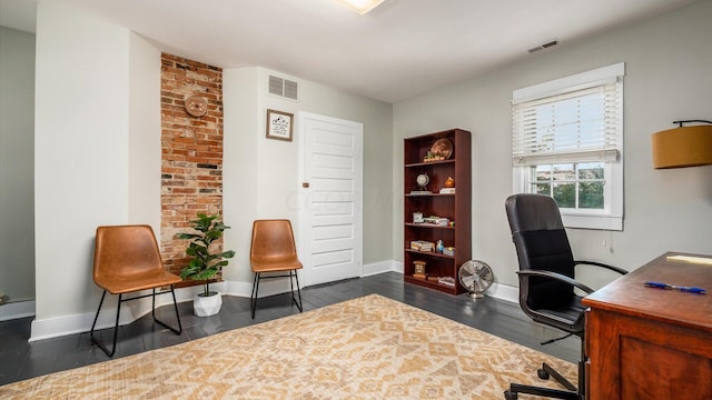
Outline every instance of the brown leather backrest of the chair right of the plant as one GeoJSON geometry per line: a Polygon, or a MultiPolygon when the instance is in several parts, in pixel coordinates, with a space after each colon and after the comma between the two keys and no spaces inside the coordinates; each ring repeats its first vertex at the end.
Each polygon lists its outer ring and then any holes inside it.
{"type": "Polygon", "coordinates": [[[250,260],[274,262],[296,260],[297,249],[294,243],[291,222],[280,220],[256,220],[253,223],[253,244],[250,260]]]}

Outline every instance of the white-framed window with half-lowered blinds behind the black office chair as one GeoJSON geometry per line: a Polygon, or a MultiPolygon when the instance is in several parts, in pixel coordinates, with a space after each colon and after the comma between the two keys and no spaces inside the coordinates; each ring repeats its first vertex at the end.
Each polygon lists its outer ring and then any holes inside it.
{"type": "Polygon", "coordinates": [[[564,224],[622,230],[623,76],[619,63],[515,90],[515,192],[556,200],[564,224]]]}

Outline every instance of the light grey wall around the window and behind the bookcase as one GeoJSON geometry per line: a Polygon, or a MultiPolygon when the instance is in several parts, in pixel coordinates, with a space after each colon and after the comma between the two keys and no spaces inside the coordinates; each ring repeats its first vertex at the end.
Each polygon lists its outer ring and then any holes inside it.
{"type": "MultiPolygon", "coordinates": [[[[394,186],[403,181],[402,138],[447,128],[473,133],[473,258],[501,283],[517,269],[504,200],[512,193],[512,91],[625,62],[624,230],[568,230],[578,259],[632,270],[668,250],[712,253],[712,166],[654,170],[652,133],[679,119],[712,119],[712,1],[562,43],[517,64],[394,106],[394,186]]],[[[526,34],[526,32],[522,32],[526,34]]],[[[394,211],[402,260],[403,201],[394,211]]],[[[594,287],[607,276],[591,278],[594,287]]]]}

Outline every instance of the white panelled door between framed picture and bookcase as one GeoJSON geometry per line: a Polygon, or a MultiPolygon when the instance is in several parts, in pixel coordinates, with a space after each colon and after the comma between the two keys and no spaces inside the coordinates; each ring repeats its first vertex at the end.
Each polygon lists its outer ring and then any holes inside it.
{"type": "Polygon", "coordinates": [[[364,126],[300,112],[299,127],[304,284],[360,277],[364,126]]]}

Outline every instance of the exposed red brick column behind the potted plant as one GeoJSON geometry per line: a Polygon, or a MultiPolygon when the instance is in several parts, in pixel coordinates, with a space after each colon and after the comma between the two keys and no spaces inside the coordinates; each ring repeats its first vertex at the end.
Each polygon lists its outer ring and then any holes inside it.
{"type": "Polygon", "coordinates": [[[178,273],[189,259],[188,242],[176,233],[188,231],[197,212],[222,216],[222,69],[162,53],[160,82],[160,248],[166,267],[178,273]],[[205,116],[186,112],[190,96],[207,100],[205,116]]]}

